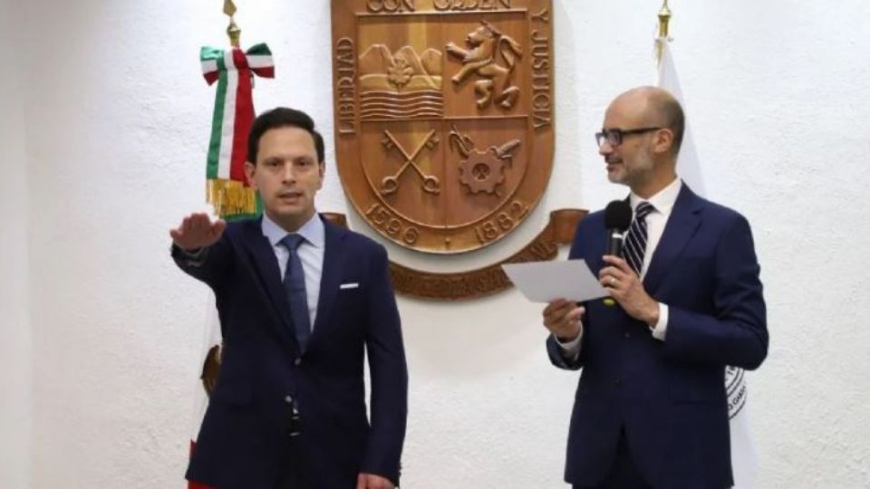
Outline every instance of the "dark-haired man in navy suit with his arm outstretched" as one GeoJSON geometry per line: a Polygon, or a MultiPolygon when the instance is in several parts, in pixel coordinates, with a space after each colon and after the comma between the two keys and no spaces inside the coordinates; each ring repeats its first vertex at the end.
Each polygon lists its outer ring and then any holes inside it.
{"type": "Polygon", "coordinates": [[[324,140],[304,112],[251,128],[261,218],[186,217],[179,267],[215,292],[222,364],[187,473],[218,489],[398,485],[408,373],[387,254],[314,211],[324,140]],[[363,358],[372,379],[366,416],[363,358]]]}

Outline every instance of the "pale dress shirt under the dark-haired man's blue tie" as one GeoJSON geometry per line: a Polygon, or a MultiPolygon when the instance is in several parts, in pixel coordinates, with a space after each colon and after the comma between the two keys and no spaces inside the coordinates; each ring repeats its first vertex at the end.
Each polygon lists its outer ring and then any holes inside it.
{"type": "MultiPolygon", "coordinates": [[[[287,270],[287,259],[290,258],[290,251],[285,245],[281,244],[281,240],[287,233],[283,227],[275,224],[275,221],[269,219],[266,213],[263,213],[263,221],[261,223],[263,235],[269,240],[272,245],[272,251],[275,252],[275,259],[278,261],[278,268],[281,271],[281,280],[284,280],[284,274],[287,270]]],[[[317,301],[320,299],[320,278],[324,271],[324,254],[326,251],[326,236],[324,222],[320,220],[320,216],[315,212],[314,216],[309,219],[295,234],[302,235],[304,240],[296,248],[296,254],[299,255],[299,261],[302,262],[302,270],[305,273],[305,295],[308,300],[308,318],[311,320],[311,329],[314,331],[314,320],[317,318],[317,301]]]]}

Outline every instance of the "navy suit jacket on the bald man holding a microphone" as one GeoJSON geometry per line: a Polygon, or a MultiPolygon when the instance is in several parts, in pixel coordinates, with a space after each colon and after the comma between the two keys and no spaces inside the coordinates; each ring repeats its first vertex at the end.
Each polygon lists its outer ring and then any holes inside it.
{"type": "MultiPolygon", "coordinates": [[[[603,265],[604,215],[577,226],[570,258],[603,265]]],[[[683,185],[643,286],[669,307],[664,341],[620,307],[586,302],[580,356],[550,360],[583,369],[568,436],[565,480],[600,482],[620,431],[648,484],[722,489],[732,484],[724,369],[756,369],[768,352],[764,299],[749,223],[683,185]]]]}

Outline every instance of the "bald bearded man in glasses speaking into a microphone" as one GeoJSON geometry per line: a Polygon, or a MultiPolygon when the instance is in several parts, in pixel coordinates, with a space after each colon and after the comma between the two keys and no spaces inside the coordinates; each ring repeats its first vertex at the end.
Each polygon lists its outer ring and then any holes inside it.
{"type": "Polygon", "coordinates": [[[575,488],[733,484],[724,369],[767,356],[765,304],[747,220],[677,177],[684,125],[670,93],[642,87],[610,104],[596,134],[643,232],[605,256],[603,213],[587,216],[570,258],[616,303],[556,300],[543,312],[550,360],[583,369],[565,461],[575,488]]]}

